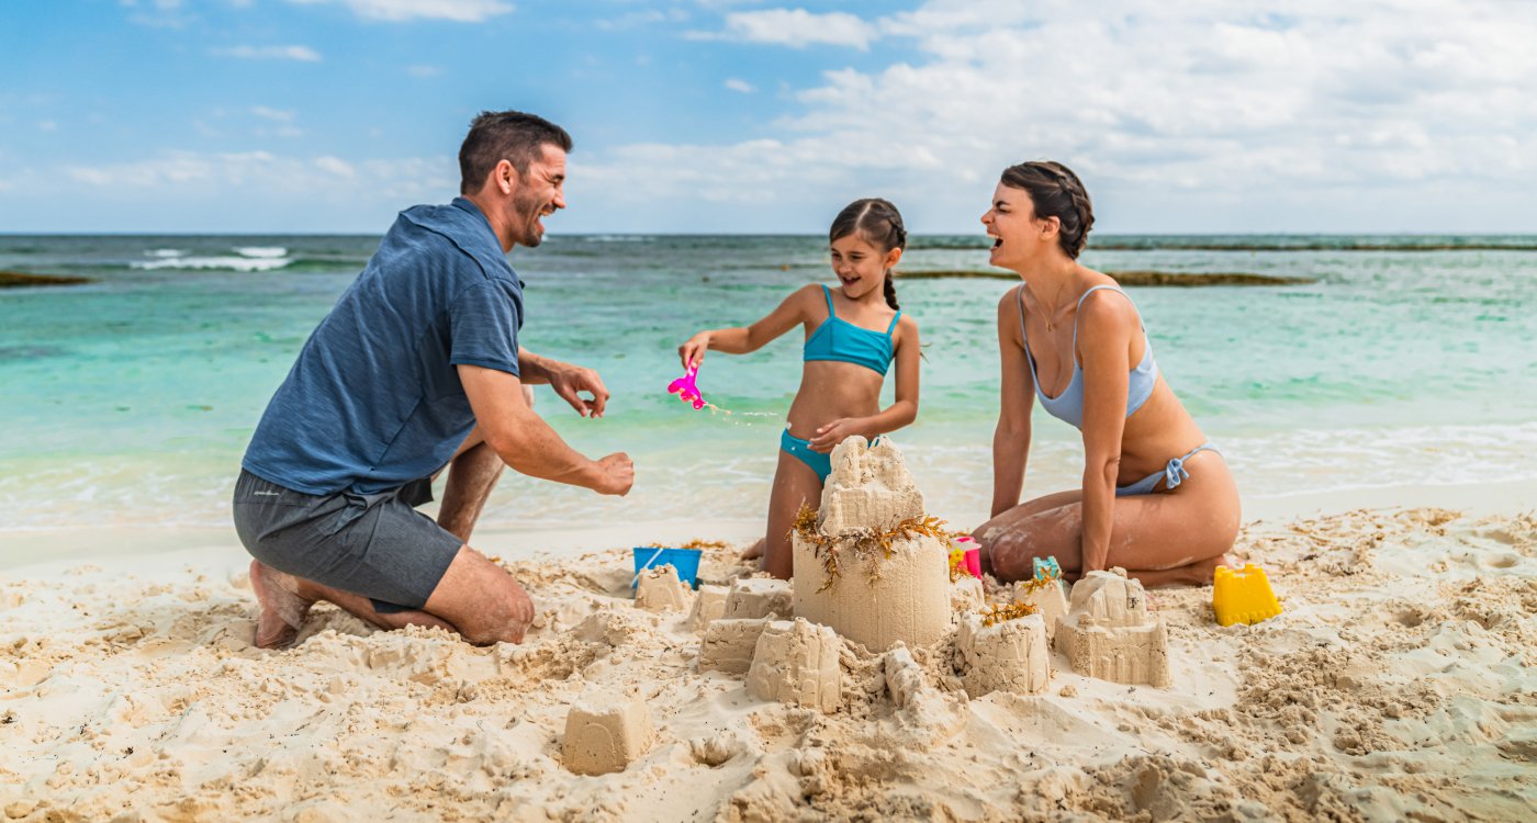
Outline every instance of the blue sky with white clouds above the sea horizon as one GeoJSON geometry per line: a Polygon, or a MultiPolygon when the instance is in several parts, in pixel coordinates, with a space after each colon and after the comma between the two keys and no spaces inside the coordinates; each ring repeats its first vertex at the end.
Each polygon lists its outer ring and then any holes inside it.
{"type": "Polygon", "coordinates": [[[1528,0],[0,0],[0,233],[383,233],[486,109],[575,138],[552,233],[1537,232],[1528,0]]]}

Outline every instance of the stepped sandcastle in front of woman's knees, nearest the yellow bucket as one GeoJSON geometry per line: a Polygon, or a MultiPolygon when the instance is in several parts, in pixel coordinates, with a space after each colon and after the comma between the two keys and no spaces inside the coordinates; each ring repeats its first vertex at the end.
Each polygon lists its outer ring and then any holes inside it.
{"type": "Polygon", "coordinates": [[[1168,628],[1148,614],[1147,593],[1122,568],[1090,571],[1073,585],[1056,649],[1073,671],[1117,683],[1168,686],[1168,628]]]}

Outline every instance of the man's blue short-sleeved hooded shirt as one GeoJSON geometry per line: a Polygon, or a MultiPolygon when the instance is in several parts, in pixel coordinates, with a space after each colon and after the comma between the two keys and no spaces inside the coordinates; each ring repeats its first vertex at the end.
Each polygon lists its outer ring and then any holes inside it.
{"type": "Polygon", "coordinates": [[[432,474],[475,425],[458,364],[518,373],[523,283],[464,198],[400,213],[304,342],[243,465],[306,494],[432,474]]]}

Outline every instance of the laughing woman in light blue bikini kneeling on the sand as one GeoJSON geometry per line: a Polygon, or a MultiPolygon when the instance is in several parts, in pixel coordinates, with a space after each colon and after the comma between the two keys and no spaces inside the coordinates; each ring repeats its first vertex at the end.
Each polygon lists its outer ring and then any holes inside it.
{"type": "Polygon", "coordinates": [[[1239,493],[1153,361],[1142,318],[1077,263],[1093,206],[1059,163],[1004,170],[982,215],[990,263],[1024,284],[998,301],[1002,410],[982,567],[1002,580],[1054,556],[1065,574],[1122,567],[1145,585],[1207,583],[1239,530],[1239,493]],[[1084,435],[1084,485],[1019,502],[1034,398],[1084,435]]]}

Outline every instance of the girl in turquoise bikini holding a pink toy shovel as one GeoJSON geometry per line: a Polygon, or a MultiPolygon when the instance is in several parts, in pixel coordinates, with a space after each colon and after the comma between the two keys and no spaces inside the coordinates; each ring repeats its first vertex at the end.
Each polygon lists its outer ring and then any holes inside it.
{"type": "Polygon", "coordinates": [[[762,568],[779,579],[793,571],[790,528],[802,505],[819,505],[833,447],[853,435],[896,431],[918,416],[918,324],[898,309],[891,284],[907,247],[902,215],[885,200],[858,200],[839,212],[828,241],[836,289],[807,286],[745,329],[699,332],[678,347],[689,369],[709,349],[745,355],[805,327],[805,367],[779,436],[762,542],[762,568]],[[896,402],[882,410],[881,382],[893,359],[896,402]]]}

